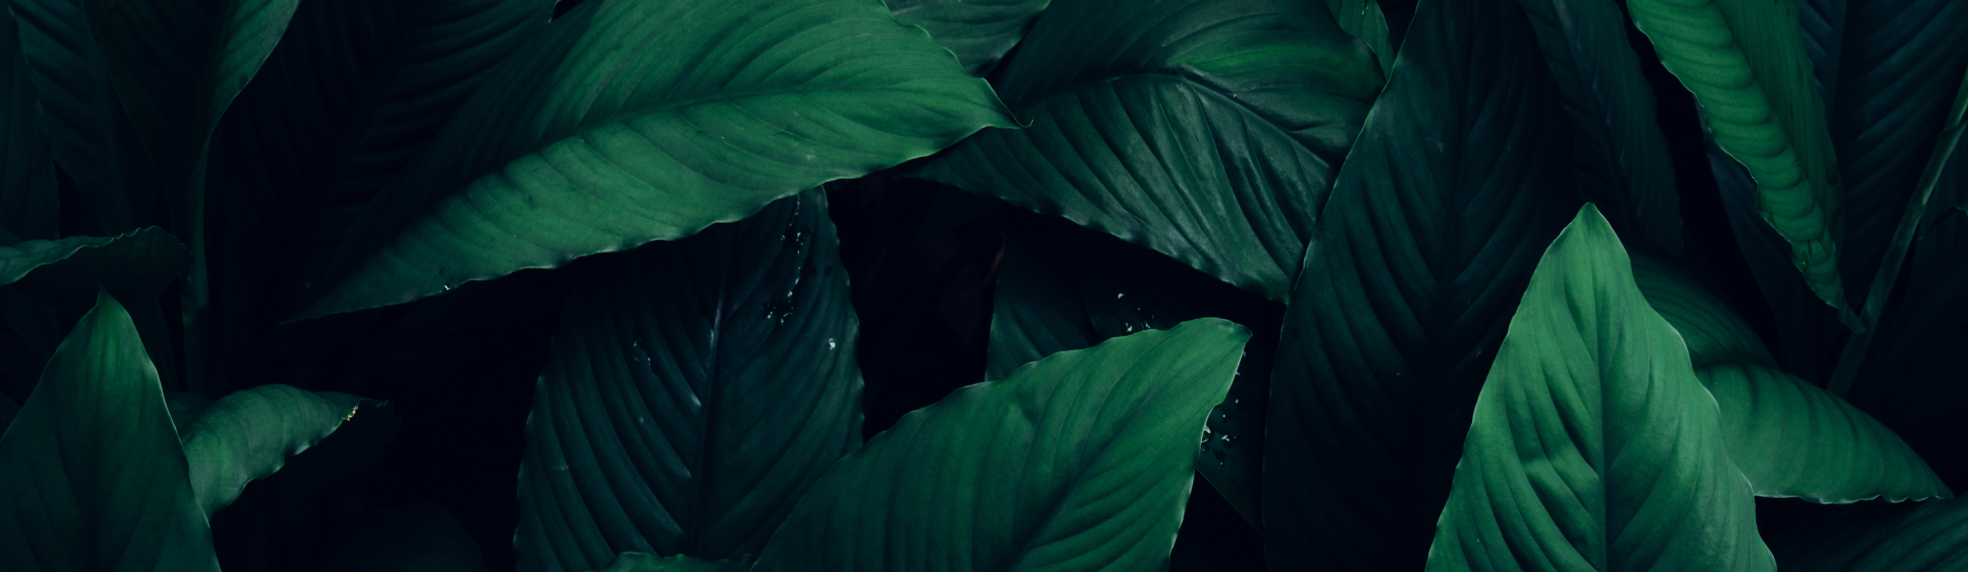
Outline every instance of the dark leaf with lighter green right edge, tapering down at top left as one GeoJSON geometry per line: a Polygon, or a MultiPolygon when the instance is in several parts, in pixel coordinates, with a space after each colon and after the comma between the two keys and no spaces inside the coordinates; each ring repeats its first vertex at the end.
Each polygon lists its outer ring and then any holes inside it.
{"type": "MultiPolygon", "coordinates": [[[[201,204],[205,142],[301,0],[75,0],[175,208],[201,204]]],[[[199,220],[197,210],[185,210],[199,220]]]]}

